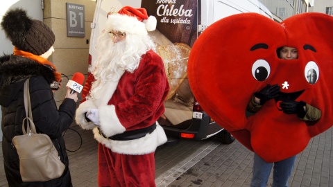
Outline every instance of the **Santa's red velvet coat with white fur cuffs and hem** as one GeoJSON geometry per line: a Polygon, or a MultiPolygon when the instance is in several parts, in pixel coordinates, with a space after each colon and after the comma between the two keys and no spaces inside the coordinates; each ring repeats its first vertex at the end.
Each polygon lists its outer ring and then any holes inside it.
{"type": "MultiPolygon", "coordinates": [[[[109,80],[101,90],[103,96],[98,100],[86,100],[76,111],[76,123],[84,129],[96,127],[85,120],[88,109],[99,109],[99,129],[105,136],[137,130],[155,123],[164,112],[164,99],[169,92],[164,64],[159,55],[148,51],[142,56],[139,67],[133,72],[121,73],[120,80],[109,80]]],[[[89,94],[93,75],[87,78],[83,98],[89,94]]],[[[104,139],[97,128],[94,129],[97,141],[121,154],[146,154],[167,141],[160,125],[151,134],[133,141],[112,141],[104,139]]]]}

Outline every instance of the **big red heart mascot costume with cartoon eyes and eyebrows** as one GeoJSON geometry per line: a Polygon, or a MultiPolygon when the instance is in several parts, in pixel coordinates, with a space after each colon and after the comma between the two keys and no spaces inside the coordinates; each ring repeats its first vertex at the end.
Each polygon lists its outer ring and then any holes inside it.
{"type": "Polygon", "coordinates": [[[188,78],[194,96],[216,123],[266,162],[302,152],[333,124],[333,17],[308,12],[281,23],[257,13],[226,17],[209,26],[191,49],[188,78]],[[297,48],[298,59],[282,60],[278,48],[297,48]],[[308,72],[316,73],[309,81],[308,72]],[[253,94],[278,84],[280,95],[321,111],[301,121],[268,100],[246,115],[253,94]]]}

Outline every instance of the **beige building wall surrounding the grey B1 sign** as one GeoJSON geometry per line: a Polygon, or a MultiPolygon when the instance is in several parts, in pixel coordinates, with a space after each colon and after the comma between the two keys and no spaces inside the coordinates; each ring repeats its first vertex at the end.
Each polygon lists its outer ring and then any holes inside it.
{"type": "MultiPolygon", "coordinates": [[[[55,64],[60,73],[67,75],[69,80],[76,72],[87,75],[90,24],[94,19],[95,7],[94,0],[44,0],[44,23],[56,35],[56,42],[53,45],[55,52],[49,57],[49,61],[55,64]],[[67,37],[66,3],[85,6],[85,37],[67,37]]],[[[65,75],[62,76],[62,88],[55,93],[58,105],[66,94],[68,79],[65,75]]]]}

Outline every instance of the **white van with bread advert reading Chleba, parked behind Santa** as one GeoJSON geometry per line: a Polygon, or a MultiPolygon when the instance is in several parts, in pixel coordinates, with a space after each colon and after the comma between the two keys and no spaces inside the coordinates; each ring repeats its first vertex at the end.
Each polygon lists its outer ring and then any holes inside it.
{"type": "Polygon", "coordinates": [[[191,92],[187,81],[191,46],[205,28],[223,17],[257,12],[271,18],[271,12],[259,0],[98,0],[91,25],[88,74],[94,66],[97,38],[107,15],[118,12],[123,6],[146,8],[148,15],[157,19],[157,28],[149,35],[164,61],[170,85],[164,102],[165,112],[159,119],[167,136],[201,140],[215,135],[222,143],[232,143],[234,137],[203,111],[191,92]]]}

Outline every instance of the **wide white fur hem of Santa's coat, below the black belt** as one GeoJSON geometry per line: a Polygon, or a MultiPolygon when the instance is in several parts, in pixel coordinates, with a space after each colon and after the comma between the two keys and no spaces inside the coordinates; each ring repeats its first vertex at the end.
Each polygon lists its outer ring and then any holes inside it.
{"type": "Polygon", "coordinates": [[[107,148],[110,148],[112,152],[117,152],[119,154],[130,154],[130,155],[142,155],[155,152],[156,148],[167,142],[167,136],[163,128],[156,122],[156,129],[146,136],[130,140],[130,141],[113,141],[110,139],[105,139],[101,134],[99,134],[99,129],[94,128],[94,138],[99,143],[102,143],[107,148]]]}

